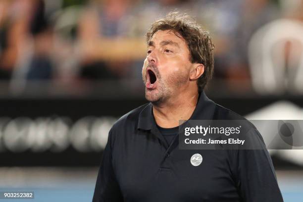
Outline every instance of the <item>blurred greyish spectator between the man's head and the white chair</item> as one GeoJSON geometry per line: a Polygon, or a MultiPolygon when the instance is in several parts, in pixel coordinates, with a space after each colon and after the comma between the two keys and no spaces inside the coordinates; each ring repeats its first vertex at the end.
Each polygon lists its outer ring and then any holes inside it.
{"type": "Polygon", "coordinates": [[[248,80],[247,46],[253,33],[277,18],[272,0],[204,0],[199,20],[212,31],[215,41],[215,78],[248,80]]]}

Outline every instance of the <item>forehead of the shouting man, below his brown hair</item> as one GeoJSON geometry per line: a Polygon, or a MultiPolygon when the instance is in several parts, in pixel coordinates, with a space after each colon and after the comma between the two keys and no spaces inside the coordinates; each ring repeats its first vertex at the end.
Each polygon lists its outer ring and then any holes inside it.
{"type": "Polygon", "coordinates": [[[187,48],[186,42],[182,36],[171,30],[159,30],[152,35],[151,42],[153,42],[153,44],[160,44],[163,41],[172,41],[177,43],[180,48],[187,48]]]}

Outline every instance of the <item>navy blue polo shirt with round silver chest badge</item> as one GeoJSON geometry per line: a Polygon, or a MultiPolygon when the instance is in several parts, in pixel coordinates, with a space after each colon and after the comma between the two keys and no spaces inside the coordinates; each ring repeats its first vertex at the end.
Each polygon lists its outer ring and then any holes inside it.
{"type": "MultiPolygon", "coordinates": [[[[202,92],[190,119],[244,118],[202,92]]],[[[251,133],[264,145],[255,128],[251,133]]],[[[179,150],[178,144],[178,135],[168,145],[159,132],[151,103],[122,116],[109,132],[93,202],[283,202],[265,145],[179,150]],[[195,153],[202,155],[199,166],[190,161],[195,153]]]]}

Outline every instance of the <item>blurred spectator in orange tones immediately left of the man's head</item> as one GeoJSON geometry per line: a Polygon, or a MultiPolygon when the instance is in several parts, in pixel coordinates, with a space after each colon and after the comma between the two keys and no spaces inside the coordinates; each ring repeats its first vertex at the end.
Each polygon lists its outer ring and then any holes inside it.
{"type": "Polygon", "coordinates": [[[86,9],[79,23],[82,78],[123,78],[144,58],[144,40],[130,34],[136,1],[96,0],[86,9]]]}

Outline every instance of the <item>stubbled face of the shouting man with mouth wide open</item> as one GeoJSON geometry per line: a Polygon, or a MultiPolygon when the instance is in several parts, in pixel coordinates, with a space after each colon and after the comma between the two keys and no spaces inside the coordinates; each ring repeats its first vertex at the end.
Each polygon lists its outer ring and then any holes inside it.
{"type": "Polygon", "coordinates": [[[146,99],[160,103],[186,90],[191,66],[190,52],[182,37],[169,30],[154,33],[142,69],[146,99]]]}

